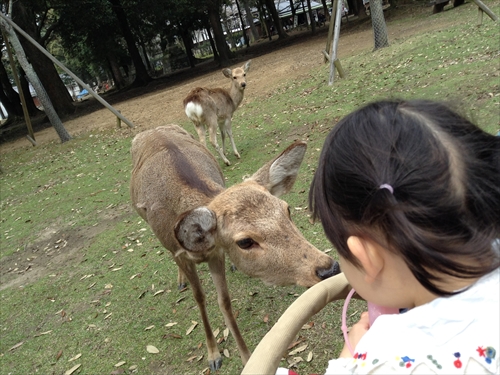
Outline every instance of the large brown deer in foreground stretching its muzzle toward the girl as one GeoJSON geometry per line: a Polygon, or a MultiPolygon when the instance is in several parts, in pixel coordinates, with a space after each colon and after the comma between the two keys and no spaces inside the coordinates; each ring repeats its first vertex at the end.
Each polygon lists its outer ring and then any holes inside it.
{"type": "Polygon", "coordinates": [[[340,272],[338,263],[311,245],[290,219],[285,201],[306,151],[296,142],[245,181],[228,189],[215,157],[177,125],[161,126],[132,141],[130,192],[178,266],[178,286],[189,281],[205,328],[208,362],[222,358],[208,321],[196,264],[207,262],[241,359],[250,357],[232,313],[225,254],[246,275],[271,285],[310,287],[340,272]]]}

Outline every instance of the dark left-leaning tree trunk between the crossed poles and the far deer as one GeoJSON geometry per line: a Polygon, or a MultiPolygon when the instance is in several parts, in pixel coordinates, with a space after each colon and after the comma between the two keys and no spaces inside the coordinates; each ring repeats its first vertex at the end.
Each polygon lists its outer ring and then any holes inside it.
{"type": "Polygon", "coordinates": [[[120,25],[120,30],[122,32],[123,38],[127,43],[128,52],[135,66],[135,80],[132,83],[133,86],[145,86],[151,82],[151,77],[148,74],[144,63],[142,62],[141,54],[135,44],[134,36],[132,31],[130,31],[130,26],[127,20],[127,15],[123,10],[121,5],[121,0],[108,0],[111,5],[113,12],[115,13],[118,24],[120,25]]]}

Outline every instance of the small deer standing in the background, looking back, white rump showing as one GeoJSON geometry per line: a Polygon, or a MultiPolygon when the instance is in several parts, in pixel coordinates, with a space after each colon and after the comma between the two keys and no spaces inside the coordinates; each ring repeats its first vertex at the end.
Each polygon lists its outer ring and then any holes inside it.
{"type": "Polygon", "coordinates": [[[245,77],[248,69],[250,69],[250,61],[251,60],[248,60],[245,65],[234,68],[233,70],[229,68],[222,70],[222,74],[231,79],[231,87],[229,90],[223,88],[208,89],[197,87],[191,90],[183,101],[186,115],[193,121],[200,142],[206,145],[206,126],[208,128],[210,143],[217,150],[226,165],[231,165],[224,154],[224,139],[226,134],[233,146],[234,155],[238,159],[240,158],[240,154],[234,143],[231,119],[233,118],[234,111],[236,111],[243,100],[243,94],[247,86],[245,77]],[[217,124],[220,128],[222,147],[219,147],[217,143],[217,124]]]}

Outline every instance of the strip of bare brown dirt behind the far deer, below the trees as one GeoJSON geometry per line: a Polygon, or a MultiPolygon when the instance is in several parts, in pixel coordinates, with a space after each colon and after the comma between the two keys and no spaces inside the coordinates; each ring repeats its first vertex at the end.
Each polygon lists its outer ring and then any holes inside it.
{"type": "MultiPolygon", "coordinates": [[[[443,25],[433,17],[430,7],[416,5],[400,5],[398,9],[385,13],[389,42],[442,28],[443,25]],[[428,17],[408,20],[401,23],[398,19],[424,13],[428,17]]],[[[280,82],[307,74],[311,68],[324,65],[322,50],[325,49],[328,24],[311,36],[308,30],[293,32],[285,40],[270,43],[261,40],[250,49],[240,51],[232,66],[242,65],[252,59],[250,72],[247,76],[247,91],[244,101],[262,100],[266,98],[280,82]]],[[[275,37],[276,38],[276,37],[275,37]]],[[[364,19],[343,20],[338,46],[338,57],[356,55],[373,49],[373,31],[368,17],[364,19]]],[[[226,87],[227,79],[214,63],[204,63],[195,69],[186,69],[170,77],[156,79],[148,86],[130,89],[119,93],[109,93],[104,99],[114,108],[134,123],[134,131],[156,127],[166,123],[185,121],[182,99],[196,86],[226,87]]],[[[115,115],[94,99],[77,103],[77,111],[70,118],[63,119],[67,131],[76,137],[93,130],[116,127],[115,115]]],[[[122,126],[126,127],[125,124],[122,126]]],[[[26,131],[24,132],[26,134],[26,131]]],[[[31,147],[24,134],[14,140],[0,144],[2,152],[8,152],[19,147],[31,147]]],[[[35,127],[35,137],[39,145],[57,141],[55,130],[45,124],[35,127]]],[[[2,140],[0,140],[1,142],[2,140]]]]}

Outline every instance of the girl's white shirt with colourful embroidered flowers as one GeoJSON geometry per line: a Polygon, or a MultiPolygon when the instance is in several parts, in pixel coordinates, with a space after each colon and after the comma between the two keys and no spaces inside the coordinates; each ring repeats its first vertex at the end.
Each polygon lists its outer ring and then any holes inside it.
{"type": "Polygon", "coordinates": [[[500,269],[469,289],[381,315],[326,374],[500,374],[500,269]]]}

